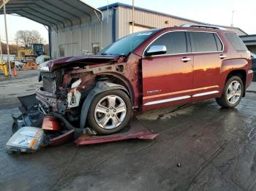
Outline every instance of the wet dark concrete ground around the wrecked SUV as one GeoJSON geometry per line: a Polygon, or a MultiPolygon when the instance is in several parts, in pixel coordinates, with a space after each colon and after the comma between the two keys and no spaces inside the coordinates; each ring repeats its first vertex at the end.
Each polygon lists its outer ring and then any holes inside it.
{"type": "Polygon", "coordinates": [[[0,190],[256,190],[254,91],[236,109],[209,100],[140,114],[159,132],[154,141],[8,155],[16,96],[38,85],[35,77],[0,82],[0,190]]]}

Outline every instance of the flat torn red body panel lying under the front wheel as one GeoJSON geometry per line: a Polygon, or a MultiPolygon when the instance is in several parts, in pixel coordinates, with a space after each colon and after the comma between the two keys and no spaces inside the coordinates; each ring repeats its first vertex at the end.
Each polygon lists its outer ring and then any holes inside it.
{"type": "Polygon", "coordinates": [[[108,136],[90,136],[89,134],[83,134],[75,140],[77,145],[86,144],[101,144],[106,142],[121,141],[127,139],[154,139],[159,133],[153,133],[151,130],[145,128],[137,118],[133,118],[129,122],[128,130],[121,131],[108,136]]]}

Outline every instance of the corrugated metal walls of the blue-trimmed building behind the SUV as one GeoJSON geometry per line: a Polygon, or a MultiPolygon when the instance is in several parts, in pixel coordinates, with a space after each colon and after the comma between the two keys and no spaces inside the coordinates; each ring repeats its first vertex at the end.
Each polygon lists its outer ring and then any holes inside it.
{"type": "MultiPolygon", "coordinates": [[[[52,31],[52,58],[93,53],[93,44],[94,46],[95,44],[100,44],[99,49],[101,49],[117,39],[132,33],[132,9],[119,6],[112,7],[109,11],[105,9],[102,12],[104,16],[102,36],[101,24],[98,20],[94,20],[94,22],[90,24],[84,23],[82,26],[73,26],[72,28],[69,27],[64,30],[52,31]]],[[[135,9],[135,32],[148,28],[181,26],[185,23],[202,24],[174,16],[161,15],[157,12],[135,9]]],[[[238,28],[232,29],[233,31],[235,30],[237,34],[241,33],[238,28]]]]}

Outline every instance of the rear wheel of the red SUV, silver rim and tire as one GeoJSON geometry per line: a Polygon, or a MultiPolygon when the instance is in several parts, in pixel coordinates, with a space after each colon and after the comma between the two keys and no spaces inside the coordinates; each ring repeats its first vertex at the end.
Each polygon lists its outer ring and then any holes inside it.
{"type": "Polygon", "coordinates": [[[236,107],[243,96],[244,83],[240,77],[230,77],[225,83],[225,87],[221,98],[217,98],[217,104],[223,108],[236,107]],[[237,89],[236,89],[237,88],[237,89]]]}

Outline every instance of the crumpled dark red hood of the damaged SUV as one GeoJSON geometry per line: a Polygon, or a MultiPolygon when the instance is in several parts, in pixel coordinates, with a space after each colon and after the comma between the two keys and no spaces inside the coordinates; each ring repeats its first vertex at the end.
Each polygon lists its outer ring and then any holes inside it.
{"type": "Polygon", "coordinates": [[[42,67],[48,67],[49,71],[54,71],[56,69],[61,69],[69,66],[79,66],[81,64],[84,66],[88,66],[88,65],[102,64],[102,63],[109,63],[109,62],[115,63],[118,61],[119,57],[120,56],[118,55],[71,56],[71,57],[59,58],[59,59],[42,63],[42,67]]]}

